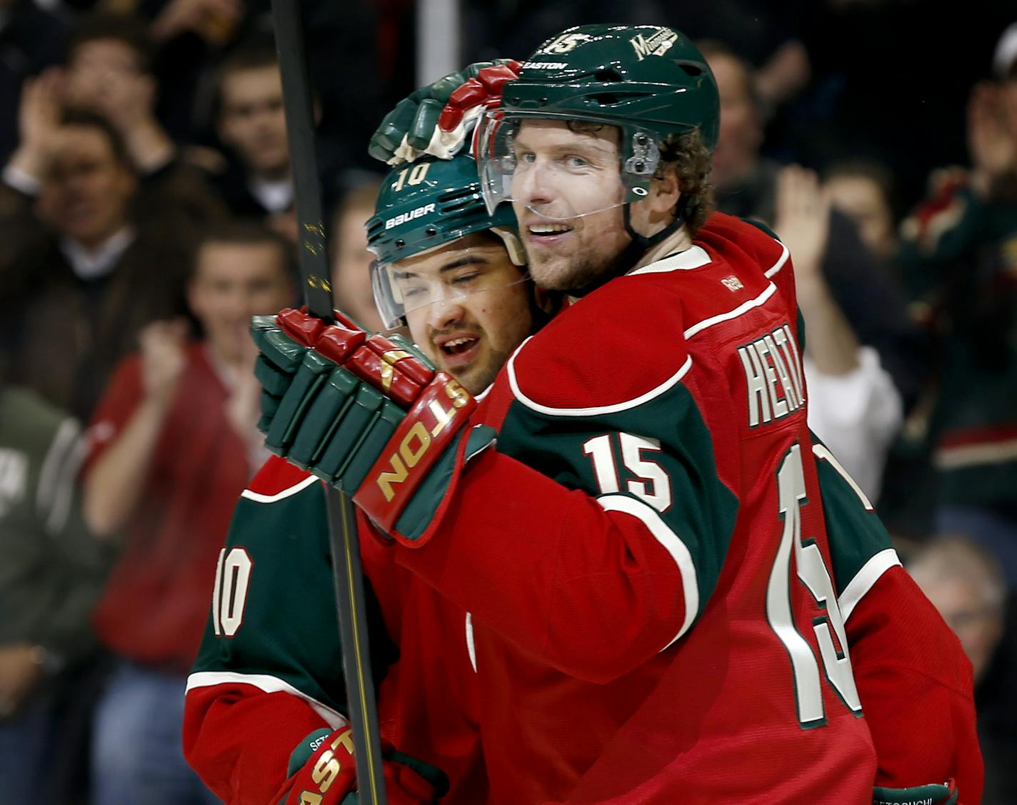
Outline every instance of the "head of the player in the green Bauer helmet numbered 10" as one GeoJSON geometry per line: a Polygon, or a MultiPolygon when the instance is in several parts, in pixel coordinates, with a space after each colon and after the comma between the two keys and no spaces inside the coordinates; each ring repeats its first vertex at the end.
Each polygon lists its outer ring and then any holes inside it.
{"type": "Polygon", "coordinates": [[[479,394],[546,317],[510,207],[488,214],[469,157],[393,174],[367,222],[374,300],[431,361],[479,394]]]}

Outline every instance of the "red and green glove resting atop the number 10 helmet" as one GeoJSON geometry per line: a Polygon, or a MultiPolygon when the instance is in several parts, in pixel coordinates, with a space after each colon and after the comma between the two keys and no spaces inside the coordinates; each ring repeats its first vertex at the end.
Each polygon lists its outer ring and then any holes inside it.
{"type": "Polygon", "coordinates": [[[482,61],[422,87],[381,121],[368,152],[390,165],[413,162],[422,154],[452,159],[486,110],[501,101],[501,90],[519,76],[521,63],[482,61]]]}

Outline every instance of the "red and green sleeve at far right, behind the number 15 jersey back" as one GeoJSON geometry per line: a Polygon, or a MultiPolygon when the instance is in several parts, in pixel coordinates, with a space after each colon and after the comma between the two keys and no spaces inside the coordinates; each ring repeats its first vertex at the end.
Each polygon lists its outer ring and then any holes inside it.
{"type": "Polygon", "coordinates": [[[953,778],[962,802],[978,802],[971,665],[901,567],[869,499],[824,445],[817,441],[813,452],[855,685],[876,746],[876,785],[953,778]]]}

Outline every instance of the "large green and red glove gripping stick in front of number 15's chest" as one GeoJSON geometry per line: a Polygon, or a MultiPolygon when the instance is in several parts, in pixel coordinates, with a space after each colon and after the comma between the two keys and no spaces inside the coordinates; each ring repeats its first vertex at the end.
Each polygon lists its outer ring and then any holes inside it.
{"type": "Polygon", "coordinates": [[[325,327],[288,309],[252,333],[265,446],[352,495],[381,532],[423,544],[456,470],[493,441],[490,428],[461,438],[469,392],[398,336],[349,320],[325,327]]]}

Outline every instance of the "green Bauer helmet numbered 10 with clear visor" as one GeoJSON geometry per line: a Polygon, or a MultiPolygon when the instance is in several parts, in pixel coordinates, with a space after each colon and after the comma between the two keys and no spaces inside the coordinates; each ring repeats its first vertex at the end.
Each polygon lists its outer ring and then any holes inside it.
{"type": "Polygon", "coordinates": [[[371,287],[385,327],[406,324],[407,312],[430,304],[441,295],[467,295],[528,278],[525,272],[522,275],[516,272],[508,278],[484,276],[472,285],[465,281],[443,285],[408,275],[397,265],[466,235],[488,230],[501,238],[513,264],[526,265],[515,213],[503,206],[488,214],[480,192],[477,166],[470,156],[460,155],[451,160],[424,158],[394,169],[381,184],[374,211],[366,224],[367,248],[375,256],[371,287]]]}

